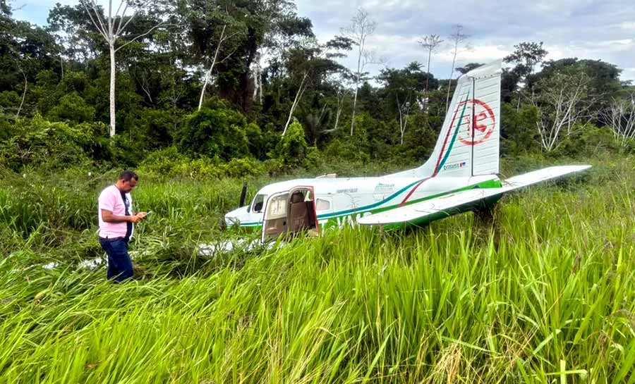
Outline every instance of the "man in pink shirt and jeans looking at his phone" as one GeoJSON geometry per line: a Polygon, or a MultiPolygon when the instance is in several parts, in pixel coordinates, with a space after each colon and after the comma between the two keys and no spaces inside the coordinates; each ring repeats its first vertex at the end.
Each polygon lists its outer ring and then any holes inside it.
{"type": "Polygon", "coordinates": [[[136,173],[124,171],[115,185],[106,187],[99,194],[99,244],[108,255],[107,277],[117,283],[133,277],[128,242],[133,235],[133,224],[142,221],[147,214],[132,213],[130,192],[138,180],[136,173]]]}

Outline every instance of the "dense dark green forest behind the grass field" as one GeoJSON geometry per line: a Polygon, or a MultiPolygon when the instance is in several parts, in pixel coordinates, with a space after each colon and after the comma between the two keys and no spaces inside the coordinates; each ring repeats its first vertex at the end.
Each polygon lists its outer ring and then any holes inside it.
{"type": "MultiPolygon", "coordinates": [[[[479,65],[461,62],[460,25],[422,36],[409,65],[389,68],[369,49],[380,25],[361,8],[320,42],[288,0],[125,4],[57,4],[39,26],[0,0],[2,168],[214,177],[418,162],[456,78],[479,65]],[[452,78],[433,74],[440,49],[454,54],[452,78]]],[[[514,48],[504,58],[503,156],[635,147],[635,93],[617,66],[545,60],[543,42],[514,48]]]]}

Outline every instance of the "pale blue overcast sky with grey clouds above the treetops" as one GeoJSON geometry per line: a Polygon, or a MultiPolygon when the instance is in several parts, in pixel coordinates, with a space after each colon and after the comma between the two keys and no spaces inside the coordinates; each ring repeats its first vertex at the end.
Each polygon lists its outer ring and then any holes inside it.
{"type": "MultiPolygon", "coordinates": [[[[14,17],[45,25],[56,2],[14,0],[14,8],[22,7],[14,17]]],[[[458,66],[502,58],[519,42],[542,41],[548,58],[601,59],[621,68],[622,80],[635,80],[634,0],[296,0],[296,4],[298,14],[313,21],[320,42],[339,34],[357,8],[363,7],[377,22],[369,46],[394,68],[403,68],[411,61],[425,63],[427,56],[417,43],[421,36],[435,33],[447,41],[454,25],[461,24],[471,35],[472,49],[459,53],[458,66]]],[[[352,58],[344,63],[353,66],[352,58]]],[[[451,63],[450,47],[442,47],[433,56],[430,72],[447,78],[451,63]]],[[[378,69],[368,68],[371,73],[378,69]]]]}

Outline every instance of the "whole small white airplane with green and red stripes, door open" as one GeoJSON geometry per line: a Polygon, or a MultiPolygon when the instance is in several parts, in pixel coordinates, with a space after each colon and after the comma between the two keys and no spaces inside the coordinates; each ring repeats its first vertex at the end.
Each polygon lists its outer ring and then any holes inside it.
{"type": "Polygon", "coordinates": [[[459,78],[435,149],[423,166],[375,178],[276,182],[248,206],[225,215],[228,226],[262,230],[261,240],[348,223],[400,227],[492,206],[503,194],[591,166],[554,166],[500,180],[501,61],[459,78]]]}

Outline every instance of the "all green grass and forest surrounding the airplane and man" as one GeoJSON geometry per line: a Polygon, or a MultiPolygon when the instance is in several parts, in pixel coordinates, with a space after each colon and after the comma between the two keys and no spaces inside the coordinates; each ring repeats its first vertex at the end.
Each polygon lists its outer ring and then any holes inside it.
{"type": "Polygon", "coordinates": [[[635,383],[635,94],[617,66],[535,42],[504,59],[502,177],[594,167],[504,198],[494,227],[466,213],[248,249],[222,228],[244,181],[250,198],[421,164],[456,74],[423,51],[374,79],[344,68],[359,42],[318,42],[293,1],[151,3],[109,47],[80,4],[41,27],[0,0],[0,384],[635,383]],[[137,279],[114,285],[90,266],[123,168],[155,214],[137,279]]]}

